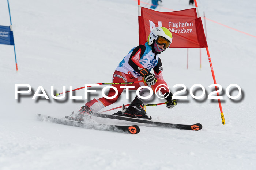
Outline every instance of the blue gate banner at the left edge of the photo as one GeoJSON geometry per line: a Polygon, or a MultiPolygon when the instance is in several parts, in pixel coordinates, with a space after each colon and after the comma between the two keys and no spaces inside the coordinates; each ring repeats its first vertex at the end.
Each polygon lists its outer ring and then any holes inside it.
{"type": "Polygon", "coordinates": [[[0,26],[0,44],[14,45],[13,32],[9,26],[0,26]]]}

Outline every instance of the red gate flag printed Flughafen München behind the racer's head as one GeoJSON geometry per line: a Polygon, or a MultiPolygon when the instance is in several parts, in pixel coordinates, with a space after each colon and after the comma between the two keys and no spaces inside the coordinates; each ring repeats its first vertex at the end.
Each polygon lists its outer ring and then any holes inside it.
{"type": "Polygon", "coordinates": [[[196,8],[159,12],[141,7],[139,15],[139,43],[147,42],[149,33],[155,27],[166,27],[173,35],[170,48],[206,48],[202,20],[197,17],[196,8]]]}

